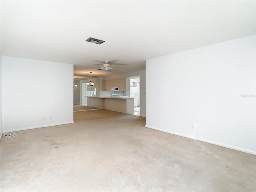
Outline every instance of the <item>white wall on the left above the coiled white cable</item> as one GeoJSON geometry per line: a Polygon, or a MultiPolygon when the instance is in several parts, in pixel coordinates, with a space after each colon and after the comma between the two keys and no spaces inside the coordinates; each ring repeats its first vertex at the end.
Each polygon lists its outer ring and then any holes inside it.
{"type": "Polygon", "coordinates": [[[2,117],[3,131],[72,123],[73,64],[2,56],[2,117]]]}

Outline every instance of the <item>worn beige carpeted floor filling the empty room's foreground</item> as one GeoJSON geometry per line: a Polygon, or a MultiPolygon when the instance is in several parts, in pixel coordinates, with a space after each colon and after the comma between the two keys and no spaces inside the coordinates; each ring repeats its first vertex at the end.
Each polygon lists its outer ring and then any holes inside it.
{"type": "Polygon", "coordinates": [[[145,128],[145,118],[74,112],[74,124],[1,140],[1,191],[256,191],[256,158],[145,128]]]}

